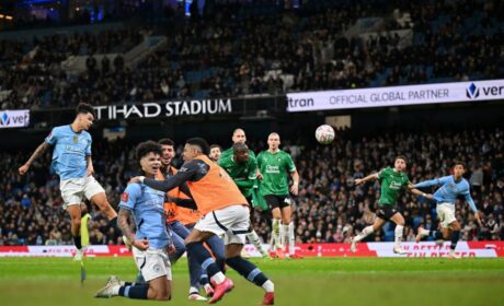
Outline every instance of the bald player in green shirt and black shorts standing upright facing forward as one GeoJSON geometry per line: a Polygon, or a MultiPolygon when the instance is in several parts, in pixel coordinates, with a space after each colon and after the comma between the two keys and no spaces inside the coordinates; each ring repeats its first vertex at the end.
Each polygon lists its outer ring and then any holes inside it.
{"type": "Polygon", "coordinates": [[[290,258],[298,258],[295,252],[294,223],[290,220],[289,191],[298,195],[299,175],[289,154],[278,149],[280,137],[271,133],[267,138],[268,150],[257,155],[257,166],[261,179],[260,192],[272,209],[272,251],[282,257],[286,242],[289,242],[290,258]],[[293,178],[289,188],[288,176],[293,178]],[[278,248],[279,247],[279,248],[278,248]]]}

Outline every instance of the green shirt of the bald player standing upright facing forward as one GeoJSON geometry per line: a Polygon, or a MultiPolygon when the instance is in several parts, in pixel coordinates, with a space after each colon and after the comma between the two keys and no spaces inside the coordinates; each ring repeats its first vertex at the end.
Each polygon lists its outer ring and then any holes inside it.
{"type": "Polygon", "coordinates": [[[288,175],[296,170],[293,157],[278,150],[275,153],[263,151],[257,155],[257,167],[263,175],[261,195],[288,196],[288,175]]]}

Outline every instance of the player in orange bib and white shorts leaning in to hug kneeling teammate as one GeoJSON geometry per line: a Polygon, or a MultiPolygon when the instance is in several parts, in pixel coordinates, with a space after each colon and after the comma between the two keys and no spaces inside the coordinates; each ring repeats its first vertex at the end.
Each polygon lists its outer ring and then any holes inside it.
{"type": "Polygon", "coordinates": [[[240,256],[245,234],[250,226],[249,208],[245,198],[229,175],[207,156],[208,143],[202,138],[187,140],[184,146],[184,165],[172,177],[159,181],[145,177],[135,177],[131,183],[168,191],[184,183],[194,199],[197,210],[204,215],[185,239],[191,256],[197,258],[215,285],[215,293],[209,301],[214,304],[230,292],[234,285],[225,276],[203,243],[214,235],[225,235],[226,263],[241,275],[261,286],[266,292],[262,305],[273,305],[274,284],[255,264],[240,256]]]}

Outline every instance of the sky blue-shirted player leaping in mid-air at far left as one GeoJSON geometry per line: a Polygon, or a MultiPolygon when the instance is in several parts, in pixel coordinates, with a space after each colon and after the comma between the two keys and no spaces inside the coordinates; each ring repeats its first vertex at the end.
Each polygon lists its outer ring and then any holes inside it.
{"type": "Polygon", "coordinates": [[[60,179],[59,189],[65,201],[64,209],[71,217],[71,234],[77,247],[75,259],[80,260],[82,258],[80,203],[83,197],[107,216],[111,226],[116,231],[118,228],[117,213],[106,200],[105,190],[93,177],[92,139],[88,130],[93,125],[94,109],[91,105],[81,103],[77,106],[76,113],[76,119],[71,125],[56,127],[51,130],[30,160],[19,168],[19,173],[24,175],[38,156],[54,146],[53,168],[60,179]]]}

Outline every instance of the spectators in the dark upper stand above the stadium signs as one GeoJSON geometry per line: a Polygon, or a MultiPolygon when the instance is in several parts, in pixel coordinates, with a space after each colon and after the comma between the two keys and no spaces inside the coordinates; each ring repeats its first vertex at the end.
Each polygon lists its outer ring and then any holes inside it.
{"type": "Polygon", "coordinates": [[[152,27],[167,44],[134,68],[122,57],[98,62],[93,56],[122,54],[139,42],[139,30],[39,38],[30,44],[39,48],[30,62],[21,56],[32,50],[26,44],[2,42],[0,54],[13,55],[0,60],[0,92],[9,92],[0,96],[1,107],[279,95],[504,75],[502,1],[320,0],[299,10],[263,1],[217,3],[204,17],[177,17],[184,13],[176,10],[152,27]],[[409,19],[399,22],[397,10],[409,19]],[[371,38],[346,35],[366,17],[381,17],[381,32],[371,38]],[[396,30],[412,35],[401,38],[396,30]],[[68,75],[60,62],[70,55],[89,55],[88,70],[68,75]]]}

